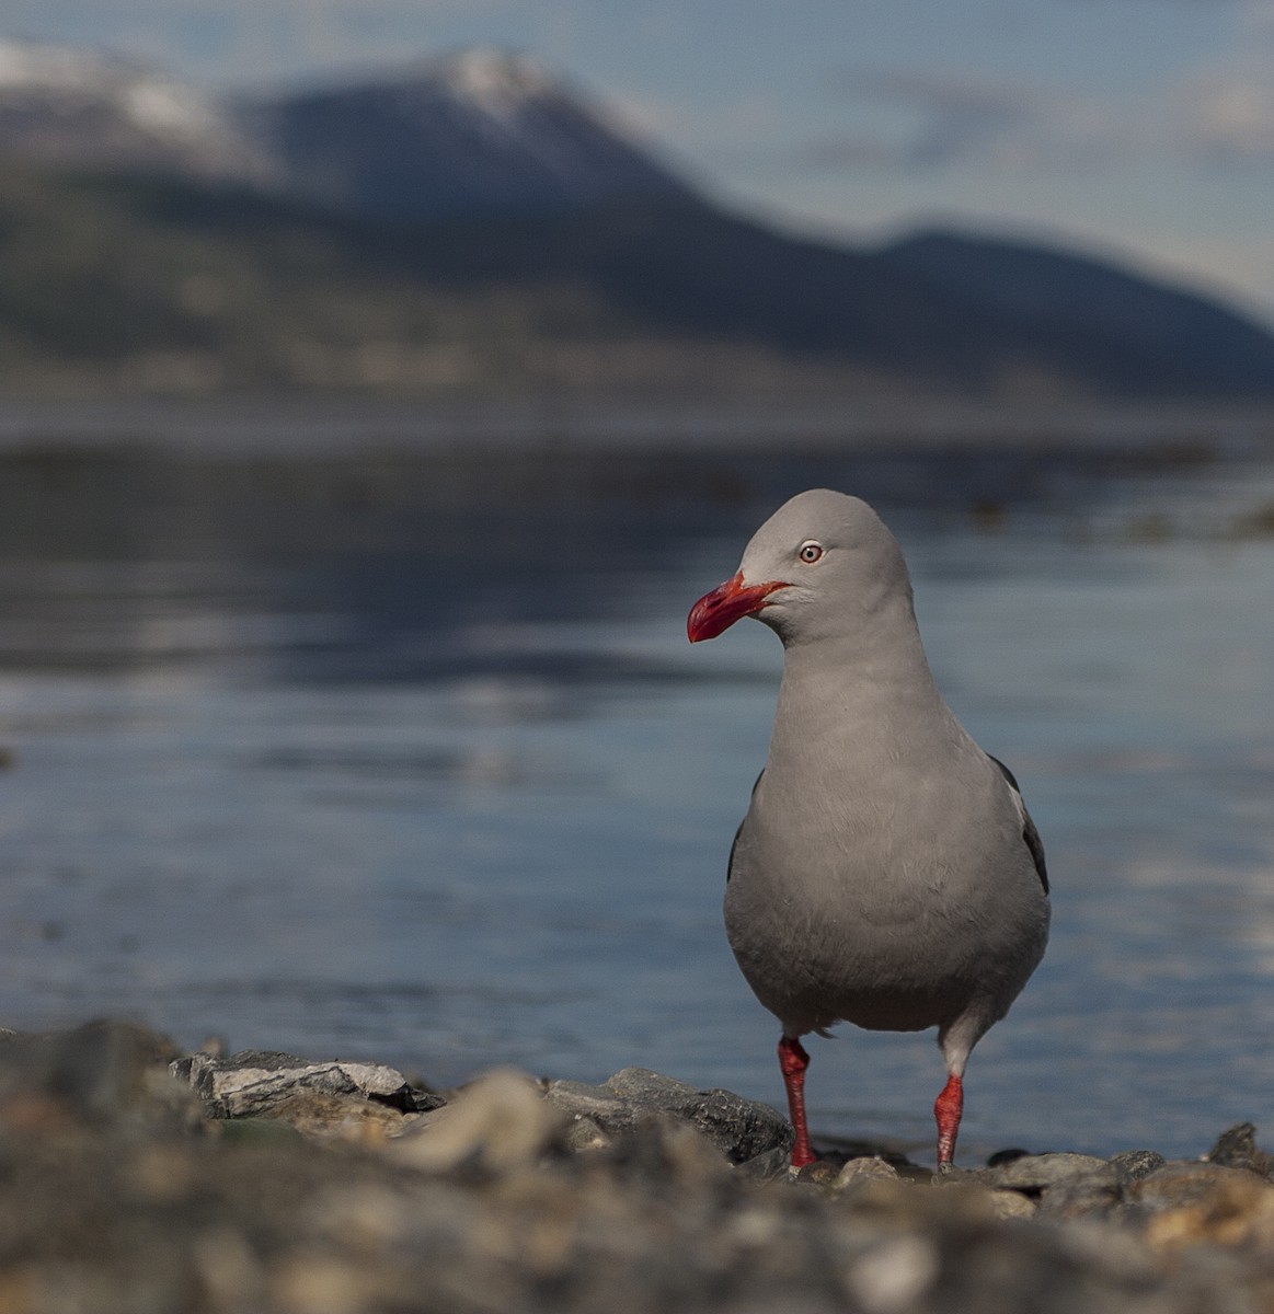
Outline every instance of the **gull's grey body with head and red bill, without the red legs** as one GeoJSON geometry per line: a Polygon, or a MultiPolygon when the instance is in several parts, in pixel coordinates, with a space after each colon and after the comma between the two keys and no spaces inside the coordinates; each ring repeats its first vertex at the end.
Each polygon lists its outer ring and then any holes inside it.
{"type": "Polygon", "coordinates": [[[958,1095],[1048,940],[1044,850],[1016,782],[943,702],[902,552],[865,502],[819,489],[782,506],[697,604],[692,639],[739,615],[785,650],[726,887],[743,975],[789,1039],[838,1021],[936,1026],[958,1095]]]}

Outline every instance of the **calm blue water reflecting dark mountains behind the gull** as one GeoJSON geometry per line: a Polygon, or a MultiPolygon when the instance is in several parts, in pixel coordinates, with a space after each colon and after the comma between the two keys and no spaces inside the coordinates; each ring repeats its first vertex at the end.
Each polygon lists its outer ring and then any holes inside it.
{"type": "MultiPolygon", "coordinates": [[[[684,619],[811,484],[894,526],[1048,846],[1052,946],[973,1058],[966,1156],[1274,1135],[1250,455],[0,456],[0,1021],[778,1101],[719,904],[780,648],[684,619]]],[[[813,1053],[815,1130],[928,1144],[931,1035],[813,1053]]]]}

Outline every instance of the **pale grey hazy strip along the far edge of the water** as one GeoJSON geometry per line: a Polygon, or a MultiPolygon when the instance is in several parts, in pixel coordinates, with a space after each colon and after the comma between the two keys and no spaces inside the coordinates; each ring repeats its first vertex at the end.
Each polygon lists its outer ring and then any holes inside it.
{"type": "Polygon", "coordinates": [[[350,397],[0,399],[0,456],[85,451],[197,457],[388,453],[1140,453],[1274,449],[1274,406],[1006,405],[772,396],[413,402],[350,397]]]}

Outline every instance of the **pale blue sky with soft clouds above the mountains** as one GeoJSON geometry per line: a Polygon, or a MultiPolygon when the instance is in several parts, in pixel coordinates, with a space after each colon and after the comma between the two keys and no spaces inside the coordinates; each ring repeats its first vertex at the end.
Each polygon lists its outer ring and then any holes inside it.
{"type": "Polygon", "coordinates": [[[230,88],[497,45],[785,229],[1026,234],[1274,323],[1274,0],[0,0],[0,34],[230,88]]]}

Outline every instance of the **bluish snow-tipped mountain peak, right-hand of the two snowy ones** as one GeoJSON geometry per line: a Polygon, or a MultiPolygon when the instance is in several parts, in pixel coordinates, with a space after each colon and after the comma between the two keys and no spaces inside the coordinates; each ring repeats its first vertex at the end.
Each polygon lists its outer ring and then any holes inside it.
{"type": "Polygon", "coordinates": [[[381,217],[530,214],[692,189],[536,60],[468,50],[239,106],[298,194],[381,217]]]}

